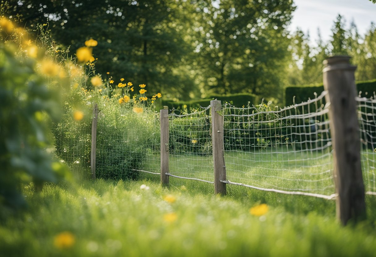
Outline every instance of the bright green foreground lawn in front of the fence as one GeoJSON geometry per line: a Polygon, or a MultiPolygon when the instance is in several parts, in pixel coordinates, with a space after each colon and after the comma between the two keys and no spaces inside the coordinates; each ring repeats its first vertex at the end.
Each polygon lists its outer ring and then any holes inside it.
{"type": "Polygon", "coordinates": [[[29,209],[2,214],[2,256],[374,256],[375,197],[367,197],[367,221],[342,227],[335,201],[211,184],[157,175],[138,181],[82,181],[24,188],[29,209]],[[147,184],[150,190],[141,190],[147,184]],[[176,197],[174,203],[163,200],[176,197]],[[261,217],[249,209],[266,203],[261,217]],[[176,213],[176,221],[164,220],[176,213]],[[8,218],[4,216],[8,215],[8,218]],[[74,236],[67,249],[54,246],[62,231],[74,236]]]}

